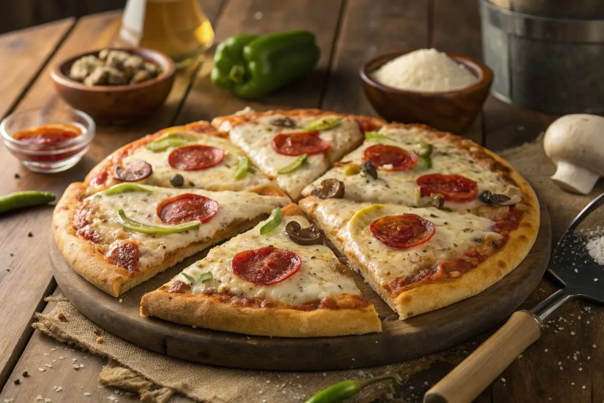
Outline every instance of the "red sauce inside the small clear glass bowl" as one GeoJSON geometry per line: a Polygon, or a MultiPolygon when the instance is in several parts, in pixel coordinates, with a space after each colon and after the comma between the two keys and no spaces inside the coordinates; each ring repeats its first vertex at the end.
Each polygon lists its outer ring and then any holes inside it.
{"type": "Polygon", "coordinates": [[[74,124],[52,123],[25,129],[11,135],[14,140],[31,144],[27,150],[21,153],[30,161],[60,161],[79,153],[85,146],[69,147],[66,152],[40,155],[39,152],[50,152],[66,148],[65,141],[82,135],[82,128],[74,124]],[[74,149],[75,148],[75,149],[74,149]],[[27,151],[31,151],[28,153],[27,151]]]}

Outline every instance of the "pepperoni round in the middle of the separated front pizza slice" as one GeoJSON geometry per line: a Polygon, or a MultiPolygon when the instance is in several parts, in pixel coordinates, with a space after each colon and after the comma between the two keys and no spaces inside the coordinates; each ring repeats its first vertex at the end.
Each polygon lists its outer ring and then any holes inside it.
{"type": "Polygon", "coordinates": [[[233,257],[233,272],[259,285],[273,285],[300,270],[302,259],[295,252],[263,247],[237,253],[233,257]]]}

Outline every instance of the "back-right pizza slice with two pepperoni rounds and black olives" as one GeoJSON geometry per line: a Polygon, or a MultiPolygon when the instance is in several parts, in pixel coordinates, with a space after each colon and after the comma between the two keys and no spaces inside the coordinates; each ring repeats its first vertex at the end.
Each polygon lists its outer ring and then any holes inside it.
{"type": "Polygon", "coordinates": [[[329,193],[341,183],[357,202],[436,206],[496,216],[532,193],[506,161],[484,147],[420,124],[388,124],[365,133],[361,147],[303,191],[329,193]],[[505,210],[505,208],[503,208],[505,210]]]}

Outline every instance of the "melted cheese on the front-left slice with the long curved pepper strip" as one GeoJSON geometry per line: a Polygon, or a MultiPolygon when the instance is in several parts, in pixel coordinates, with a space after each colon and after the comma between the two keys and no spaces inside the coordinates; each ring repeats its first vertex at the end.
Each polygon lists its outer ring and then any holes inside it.
{"type": "Polygon", "coordinates": [[[216,242],[219,231],[236,222],[251,221],[262,214],[270,213],[275,207],[288,204],[289,199],[277,196],[260,196],[250,192],[210,192],[207,190],[178,190],[146,186],[150,193],[129,192],[118,195],[97,193],[84,199],[83,204],[94,211],[94,219],[88,226],[102,234],[104,243],[131,239],[139,243],[140,268],[157,265],[173,251],[188,247],[196,242],[216,242]],[[124,230],[115,218],[123,209],[127,218],[147,225],[170,227],[159,219],[157,206],[167,198],[194,193],[218,202],[219,210],[210,221],[201,224],[198,230],[174,234],[143,234],[124,230]]]}

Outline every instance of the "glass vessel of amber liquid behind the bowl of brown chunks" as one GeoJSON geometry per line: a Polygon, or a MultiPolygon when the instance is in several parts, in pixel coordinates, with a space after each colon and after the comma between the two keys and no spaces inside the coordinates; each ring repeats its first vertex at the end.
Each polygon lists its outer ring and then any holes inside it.
{"type": "Polygon", "coordinates": [[[128,0],[120,39],[167,53],[182,66],[211,47],[214,30],[198,0],[128,0]]]}

